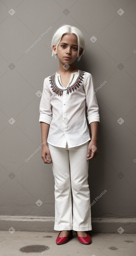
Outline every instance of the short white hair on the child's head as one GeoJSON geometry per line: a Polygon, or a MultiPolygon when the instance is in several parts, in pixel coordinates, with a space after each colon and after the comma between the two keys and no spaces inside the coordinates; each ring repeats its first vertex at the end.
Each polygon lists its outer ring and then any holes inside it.
{"type": "MultiPolygon", "coordinates": [[[[58,47],[58,44],[59,42],[61,41],[62,39],[62,36],[64,34],[74,34],[77,36],[78,38],[78,61],[80,60],[83,52],[84,52],[84,49],[85,49],[85,39],[83,37],[83,34],[82,32],[76,28],[76,27],[73,27],[73,26],[70,26],[70,25],[62,25],[61,27],[59,27],[53,34],[53,38],[51,40],[51,50],[52,50],[52,56],[54,54],[53,52],[53,45],[55,44],[56,45],[56,51],[57,51],[57,47],[58,47]],[[83,48],[83,52],[82,54],[79,56],[79,53],[80,53],[80,49],[83,48]]],[[[56,56],[55,56],[56,58],[56,56]]]]}

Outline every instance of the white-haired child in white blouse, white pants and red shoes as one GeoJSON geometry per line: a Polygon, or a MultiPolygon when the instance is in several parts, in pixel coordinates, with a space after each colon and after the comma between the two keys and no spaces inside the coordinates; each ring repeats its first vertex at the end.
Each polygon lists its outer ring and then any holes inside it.
{"type": "Polygon", "coordinates": [[[59,231],[56,244],[72,238],[72,229],[77,232],[79,242],[90,244],[91,237],[86,232],[92,230],[88,160],[97,155],[99,122],[94,80],[90,73],[74,66],[85,49],[78,28],[59,27],[53,35],[51,49],[52,56],[57,55],[59,59],[59,69],[44,80],[39,122],[41,157],[45,164],[51,164],[55,179],[54,229],[59,231]]]}

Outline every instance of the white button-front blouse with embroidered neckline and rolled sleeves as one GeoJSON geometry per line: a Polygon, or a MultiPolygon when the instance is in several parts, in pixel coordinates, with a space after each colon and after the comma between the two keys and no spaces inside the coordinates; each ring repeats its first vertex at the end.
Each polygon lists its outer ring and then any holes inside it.
{"type": "Polygon", "coordinates": [[[72,148],[90,140],[85,106],[89,124],[99,122],[92,75],[78,70],[71,74],[70,82],[65,88],[61,83],[60,74],[56,72],[48,76],[43,83],[40,101],[39,122],[50,125],[47,142],[61,148],[66,147],[66,142],[69,148],[72,148]]]}

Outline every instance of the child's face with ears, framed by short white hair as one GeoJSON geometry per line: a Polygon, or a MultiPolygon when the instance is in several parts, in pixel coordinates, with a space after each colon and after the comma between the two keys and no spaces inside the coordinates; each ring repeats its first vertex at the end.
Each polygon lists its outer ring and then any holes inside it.
{"type": "MultiPolygon", "coordinates": [[[[57,52],[56,45],[53,45],[54,53],[57,54],[59,61],[63,64],[71,64],[77,59],[78,55],[78,38],[74,34],[65,34],[62,36],[58,44],[57,52]]],[[[82,50],[80,51],[80,55],[82,50]]]]}

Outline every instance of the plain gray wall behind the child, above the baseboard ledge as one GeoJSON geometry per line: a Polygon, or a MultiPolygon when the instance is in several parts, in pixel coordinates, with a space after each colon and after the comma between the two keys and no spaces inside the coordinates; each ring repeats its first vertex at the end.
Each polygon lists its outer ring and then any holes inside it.
{"type": "Polygon", "coordinates": [[[70,24],[85,36],[77,68],[93,75],[99,105],[98,155],[89,162],[92,217],[133,218],[136,1],[3,0],[0,9],[0,214],[54,216],[54,176],[38,150],[39,104],[44,79],[58,70],[51,38],[60,25],[70,24]]]}

